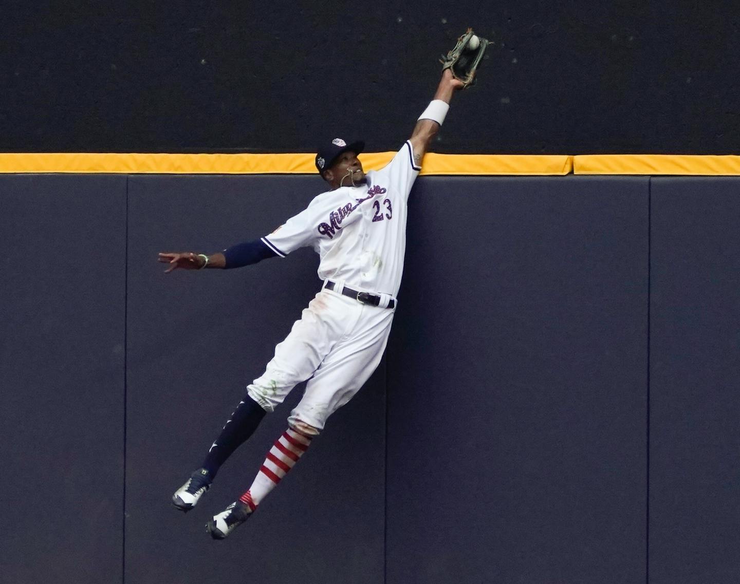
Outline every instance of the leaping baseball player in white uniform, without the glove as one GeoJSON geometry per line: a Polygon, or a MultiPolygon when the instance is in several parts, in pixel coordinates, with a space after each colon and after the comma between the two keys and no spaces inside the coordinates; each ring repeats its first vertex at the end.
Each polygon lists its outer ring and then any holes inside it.
{"type": "Polygon", "coordinates": [[[262,376],[211,445],[200,468],[172,495],[175,507],[189,511],[211,485],[226,458],[255,432],[266,414],[309,379],[288,427],[267,452],[254,482],[243,495],[209,520],[206,529],[223,539],[258,508],[292,469],[326,419],[360,390],[380,363],[388,341],[406,251],[408,194],[431,140],[445,119],[451,97],[463,86],[443,71],[429,103],[390,163],[367,174],[357,155],[361,141],[334,138],[316,155],[329,190],[271,234],[221,253],[162,253],[158,261],[175,269],[239,268],[269,257],[285,257],[303,246],[320,256],[321,290],[303,310],[289,335],[275,347],[262,376]]]}

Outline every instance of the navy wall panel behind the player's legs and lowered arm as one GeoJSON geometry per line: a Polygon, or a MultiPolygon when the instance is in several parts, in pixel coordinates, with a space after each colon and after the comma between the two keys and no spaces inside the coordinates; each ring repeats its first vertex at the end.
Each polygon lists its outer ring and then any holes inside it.
{"type": "Polygon", "coordinates": [[[249,488],[303,387],[267,415],[192,512],[169,502],[321,282],[307,249],[238,270],[167,275],[157,253],[212,253],[263,236],[324,185],[318,177],[130,180],[127,581],[382,580],[384,365],[229,539],[211,540],[206,520],[249,488]]]}

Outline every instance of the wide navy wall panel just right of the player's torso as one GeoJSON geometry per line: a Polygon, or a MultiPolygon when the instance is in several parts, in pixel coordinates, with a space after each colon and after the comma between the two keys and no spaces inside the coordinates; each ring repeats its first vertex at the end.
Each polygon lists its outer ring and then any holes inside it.
{"type": "Polygon", "coordinates": [[[647,183],[417,183],[388,584],[645,582],[647,183]]]}

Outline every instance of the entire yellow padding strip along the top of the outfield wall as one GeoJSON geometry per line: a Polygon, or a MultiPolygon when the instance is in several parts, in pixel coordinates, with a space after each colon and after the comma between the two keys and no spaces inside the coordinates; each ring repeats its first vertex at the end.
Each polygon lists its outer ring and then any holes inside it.
{"type": "MultiPolygon", "coordinates": [[[[394,152],[360,155],[366,170],[385,166],[394,152]]],[[[0,173],[315,174],[312,154],[34,154],[0,153],[0,173]]],[[[740,156],[692,155],[448,155],[430,152],[421,174],[740,175],[740,156]]]]}

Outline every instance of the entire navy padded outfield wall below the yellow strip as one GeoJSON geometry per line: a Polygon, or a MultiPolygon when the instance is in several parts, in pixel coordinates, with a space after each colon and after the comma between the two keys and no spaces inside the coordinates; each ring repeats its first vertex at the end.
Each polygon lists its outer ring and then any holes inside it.
{"type": "Polygon", "coordinates": [[[290,404],[176,513],[320,282],[306,250],[156,254],[262,235],[321,186],[0,176],[3,580],[737,582],[736,177],[420,177],[377,373],[243,532],[203,526],[290,404]]]}

